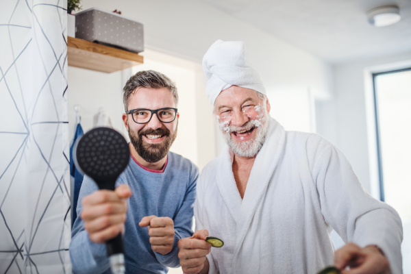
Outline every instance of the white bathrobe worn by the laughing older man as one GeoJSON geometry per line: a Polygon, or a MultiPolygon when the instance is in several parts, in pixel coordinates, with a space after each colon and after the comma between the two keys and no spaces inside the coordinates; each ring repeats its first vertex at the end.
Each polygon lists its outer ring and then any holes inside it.
{"type": "Polygon", "coordinates": [[[402,273],[397,212],[366,193],[327,140],[270,119],[243,199],[233,160],[225,147],[197,182],[196,229],[224,241],[208,255],[210,274],[317,273],[334,262],[332,229],[345,242],[377,245],[393,274],[402,273]]]}

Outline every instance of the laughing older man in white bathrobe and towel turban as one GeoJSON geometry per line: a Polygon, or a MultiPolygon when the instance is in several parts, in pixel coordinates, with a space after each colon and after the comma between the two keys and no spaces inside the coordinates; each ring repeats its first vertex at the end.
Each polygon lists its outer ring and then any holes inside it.
{"type": "Polygon", "coordinates": [[[342,273],[401,273],[397,212],[364,191],[334,145],[269,116],[243,42],[215,42],[203,69],[228,146],[199,178],[198,230],[179,241],[184,273],[314,274],[331,264],[342,273]],[[336,253],[333,229],[350,242],[336,253]],[[223,247],[211,248],[208,235],[223,247]]]}

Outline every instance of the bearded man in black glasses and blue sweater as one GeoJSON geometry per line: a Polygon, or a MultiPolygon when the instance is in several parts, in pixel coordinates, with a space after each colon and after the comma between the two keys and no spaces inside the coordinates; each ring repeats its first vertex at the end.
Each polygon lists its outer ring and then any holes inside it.
{"type": "Polygon", "coordinates": [[[74,273],[111,273],[103,242],[120,232],[127,273],[166,273],[179,266],[177,242],[192,235],[199,171],[169,151],[177,136],[177,88],[161,73],[140,71],[125,84],[123,101],[129,164],[115,191],[84,178],[70,245],[74,273]]]}

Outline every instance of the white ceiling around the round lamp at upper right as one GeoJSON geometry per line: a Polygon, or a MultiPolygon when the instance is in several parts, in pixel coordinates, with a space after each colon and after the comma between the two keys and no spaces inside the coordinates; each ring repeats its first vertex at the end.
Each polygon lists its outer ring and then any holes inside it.
{"type": "Polygon", "coordinates": [[[339,64],[411,50],[411,0],[200,0],[339,64]],[[396,4],[401,21],[373,27],[366,12],[396,4]]]}

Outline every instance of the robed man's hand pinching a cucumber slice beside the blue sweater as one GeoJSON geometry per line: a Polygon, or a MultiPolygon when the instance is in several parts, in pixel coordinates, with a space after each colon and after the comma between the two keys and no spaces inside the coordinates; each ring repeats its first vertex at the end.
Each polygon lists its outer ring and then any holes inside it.
{"type": "Polygon", "coordinates": [[[197,230],[190,238],[178,242],[180,266],[186,274],[208,273],[206,255],[211,251],[211,244],[206,242],[207,229],[197,230]]]}

